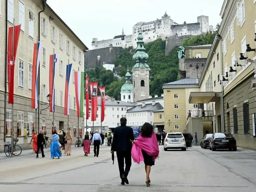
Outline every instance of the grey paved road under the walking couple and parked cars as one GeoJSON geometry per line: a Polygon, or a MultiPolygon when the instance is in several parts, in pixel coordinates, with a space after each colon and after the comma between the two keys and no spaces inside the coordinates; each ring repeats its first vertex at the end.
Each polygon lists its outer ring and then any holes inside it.
{"type": "MultiPolygon", "coordinates": [[[[85,157],[82,148],[72,156],[51,159],[31,156],[5,158],[0,154],[1,192],[255,192],[256,152],[210,151],[193,146],[187,151],[164,151],[152,167],[151,186],[145,187],[143,164],[132,164],[129,185],[121,186],[117,161],[112,165],[110,147],[101,146],[100,156],[85,157]]],[[[92,148],[91,148],[92,150],[92,148]]]]}

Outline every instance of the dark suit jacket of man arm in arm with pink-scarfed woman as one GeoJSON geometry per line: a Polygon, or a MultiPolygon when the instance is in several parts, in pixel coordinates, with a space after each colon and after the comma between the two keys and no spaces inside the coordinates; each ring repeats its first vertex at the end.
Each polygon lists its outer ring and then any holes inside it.
{"type": "Polygon", "coordinates": [[[111,150],[113,151],[131,151],[134,134],[131,127],[121,125],[115,128],[111,150]]]}

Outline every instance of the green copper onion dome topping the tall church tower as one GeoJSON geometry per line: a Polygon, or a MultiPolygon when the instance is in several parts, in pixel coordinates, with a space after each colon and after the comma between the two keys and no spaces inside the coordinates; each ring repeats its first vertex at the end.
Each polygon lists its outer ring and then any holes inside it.
{"type": "Polygon", "coordinates": [[[133,68],[149,68],[147,64],[148,54],[145,52],[146,49],[144,48],[143,36],[141,31],[139,32],[139,36],[137,37],[137,49],[136,53],[133,55],[132,59],[135,61],[135,65],[133,68]]]}

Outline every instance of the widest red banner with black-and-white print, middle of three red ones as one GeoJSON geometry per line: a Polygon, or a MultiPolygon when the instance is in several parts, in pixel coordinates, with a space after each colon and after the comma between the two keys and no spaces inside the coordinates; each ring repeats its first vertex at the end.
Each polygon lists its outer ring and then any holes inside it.
{"type": "Polygon", "coordinates": [[[98,106],[98,82],[91,82],[89,84],[90,84],[91,108],[92,108],[91,121],[96,121],[97,106],[98,106]]]}

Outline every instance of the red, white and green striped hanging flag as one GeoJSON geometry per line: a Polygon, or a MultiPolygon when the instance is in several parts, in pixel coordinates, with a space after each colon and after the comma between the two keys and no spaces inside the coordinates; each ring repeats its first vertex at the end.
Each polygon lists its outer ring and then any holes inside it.
{"type": "Polygon", "coordinates": [[[84,71],[75,71],[76,111],[78,117],[84,112],[84,71]]]}

